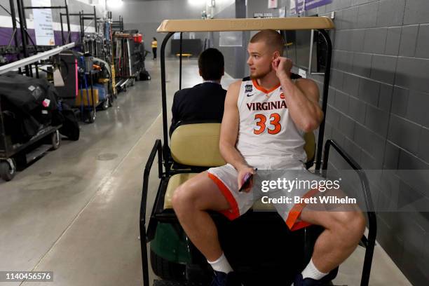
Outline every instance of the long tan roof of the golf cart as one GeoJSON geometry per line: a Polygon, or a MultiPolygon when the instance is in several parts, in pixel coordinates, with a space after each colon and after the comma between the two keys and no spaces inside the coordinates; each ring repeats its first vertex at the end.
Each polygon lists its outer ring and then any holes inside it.
{"type": "Polygon", "coordinates": [[[327,17],[163,20],[157,32],[224,32],[261,29],[334,29],[334,22],[327,17]]]}

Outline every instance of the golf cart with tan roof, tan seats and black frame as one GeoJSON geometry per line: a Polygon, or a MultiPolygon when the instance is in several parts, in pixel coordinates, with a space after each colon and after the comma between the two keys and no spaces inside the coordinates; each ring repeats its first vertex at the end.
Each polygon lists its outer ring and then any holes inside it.
{"type": "MultiPolygon", "coordinates": [[[[142,251],[143,284],[149,286],[149,261],[147,243],[150,243],[151,268],[161,280],[154,285],[208,285],[212,269],[200,252],[186,237],[174,210],[172,194],[177,186],[198,172],[224,165],[219,152],[220,123],[182,122],[172,132],[168,143],[167,103],[165,86],[165,46],[175,32],[222,32],[255,31],[261,29],[297,30],[315,29],[326,43],[326,69],[322,93],[322,110],[327,111],[327,95],[332,57],[332,43],[327,29],[333,29],[331,19],[311,18],[266,18],[266,19],[214,19],[214,20],[165,20],[158,32],[167,32],[161,46],[161,88],[163,109],[163,143],[157,139],[144,169],[142,201],[140,205],[140,240],[142,251]],[[146,222],[149,173],[158,156],[160,179],[156,198],[146,222]]],[[[182,39],[182,36],[181,36],[182,39]]],[[[182,54],[182,50],[180,51],[182,54]]],[[[180,58],[182,74],[182,58],[180,58]]],[[[181,88],[182,77],[179,79],[181,88]]],[[[329,150],[333,147],[353,168],[360,178],[366,210],[373,210],[369,184],[365,173],[353,158],[348,156],[336,142],[327,140],[322,161],[325,120],[318,132],[317,148],[313,132],[306,134],[306,167],[315,165],[315,172],[327,170],[329,150]]],[[[322,172],[326,175],[326,172],[322,172]]],[[[368,285],[376,236],[374,212],[366,212],[368,237],[363,236],[361,245],[366,248],[361,285],[368,285]]],[[[291,232],[271,206],[257,202],[242,217],[229,221],[222,214],[210,212],[217,225],[219,241],[233,269],[244,285],[290,285],[294,276],[308,264],[316,238],[322,232],[320,226],[308,226],[291,232]],[[288,284],[289,283],[289,284],[288,284]]],[[[338,268],[331,271],[327,280],[336,277],[338,268]]],[[[332,285],[332,284],[331,284],[332,285]]]]}

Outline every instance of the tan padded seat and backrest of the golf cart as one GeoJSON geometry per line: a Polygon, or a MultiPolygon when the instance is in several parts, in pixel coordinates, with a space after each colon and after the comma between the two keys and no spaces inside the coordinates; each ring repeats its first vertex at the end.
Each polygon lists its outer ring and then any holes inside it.
{"type": "MultiPolygon", "coordinates": [[[[172,132],[170,151],[172,159],[179,164],[193,167],[217,167],[224,165],[225,161],[219,151],[220,123],[194,123],[179,125],[172,132]]],[[[308,132],[304,136],[306,144],[307,160],[306,167],[313,164],[315,155],[315,137],[313,132],[308,132]]],[[[164,210],[172,209],[172,196],[177,187],[191,177],[197,175],[196,172],[179,173],[172,175],[168,181],[167,190],[164,197],[164,210]]],[[[275,210],[273,205],[264,204],[258,200],[253,205],[253,210],[275,210]]]]}

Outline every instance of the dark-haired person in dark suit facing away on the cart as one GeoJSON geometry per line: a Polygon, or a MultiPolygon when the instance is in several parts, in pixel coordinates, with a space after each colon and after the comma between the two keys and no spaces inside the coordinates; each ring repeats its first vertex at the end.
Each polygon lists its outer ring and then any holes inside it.
{"type": "Polygon", "coordinates": [[[224,75],[224,55],[215,48],[207,48],[198,57],[198,69],[203,83],[175,93],[170,135],[179,121],[222,121],[226,96],[220,84],[224,75]]]}

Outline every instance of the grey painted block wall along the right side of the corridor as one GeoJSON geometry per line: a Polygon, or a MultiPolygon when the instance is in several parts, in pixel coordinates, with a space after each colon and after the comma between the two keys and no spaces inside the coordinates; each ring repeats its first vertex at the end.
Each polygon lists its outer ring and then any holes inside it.
{"type": "MultiPolygon", "coordinates": [[[[372,184],[376,206],[418,200],[428,210],[428,179],[401,170],[429,170],[429,1],[334,0],[307,15],[332,11],[325,139],[339,142],[362,168],[391,170],[385,173],[397,184],[372,184]]],[[[311,77],[321,88],[322,78],[311,77]]],[[[377,240],[410,282],[428,285],[429,212],[379,212],[378,226],[377,240]]]]}

